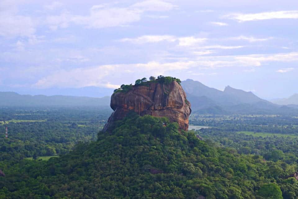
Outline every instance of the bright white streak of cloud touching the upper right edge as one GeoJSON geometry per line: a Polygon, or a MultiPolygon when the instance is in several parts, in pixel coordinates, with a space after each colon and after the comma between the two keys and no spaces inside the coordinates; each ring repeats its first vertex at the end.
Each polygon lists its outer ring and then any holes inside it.
{"type": "Polygon", "coordinates": [[[238,22],[259,21],[269,19],[298,19],[298,10],[276,11],[276,12],[259,12],[252,14],[234,13],[224,16],[225,18],[234,19],[238,22]]]}

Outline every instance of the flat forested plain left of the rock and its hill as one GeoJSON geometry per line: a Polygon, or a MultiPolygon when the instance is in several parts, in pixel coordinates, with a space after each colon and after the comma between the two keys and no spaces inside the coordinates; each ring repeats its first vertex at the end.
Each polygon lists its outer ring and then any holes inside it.
{"type": "Polygon", "coordinates": [[[110,113],[94,108],[0,109],[0,168],[28,157],[65,154],[79,142],[95,141],[110,113]]]}

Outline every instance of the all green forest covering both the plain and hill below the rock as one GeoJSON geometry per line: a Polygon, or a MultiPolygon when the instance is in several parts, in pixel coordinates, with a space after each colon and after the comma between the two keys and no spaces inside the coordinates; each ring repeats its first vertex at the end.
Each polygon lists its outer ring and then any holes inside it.
{"type": "Polygon", "coordinates": [[[192,115],[211,128],[185,132],[132,114],[100,132],[110,113],[0,109],[0,199],[298,197],[295,117],[192,115]]]}

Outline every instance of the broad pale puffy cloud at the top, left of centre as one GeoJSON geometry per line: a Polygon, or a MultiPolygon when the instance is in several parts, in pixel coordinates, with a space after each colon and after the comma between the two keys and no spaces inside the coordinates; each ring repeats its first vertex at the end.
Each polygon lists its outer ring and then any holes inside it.
{"type": "Polygon", "coordinates": [[[174,9],[175,5],[160,0],[148,0],[128,7],[108,7],[94,5],[89,15],[73,15],[63,12],[57,16],[48,16],[46,21],[50,29],[66,28],[70,23],[84,25],[88,28],[106,28],[125,26],[140,21],[146,12],[165,12],[174,9]]]}

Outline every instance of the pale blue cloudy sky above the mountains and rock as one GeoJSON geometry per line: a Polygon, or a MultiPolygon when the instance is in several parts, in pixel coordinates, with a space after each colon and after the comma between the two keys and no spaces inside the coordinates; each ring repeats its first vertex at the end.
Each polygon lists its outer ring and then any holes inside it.
{"type": "Polygon", "coordinates": [[[164,75],[289,97],[297,24],[294,0],[1,0],[0,91],[115,89],[164,75]]]}

